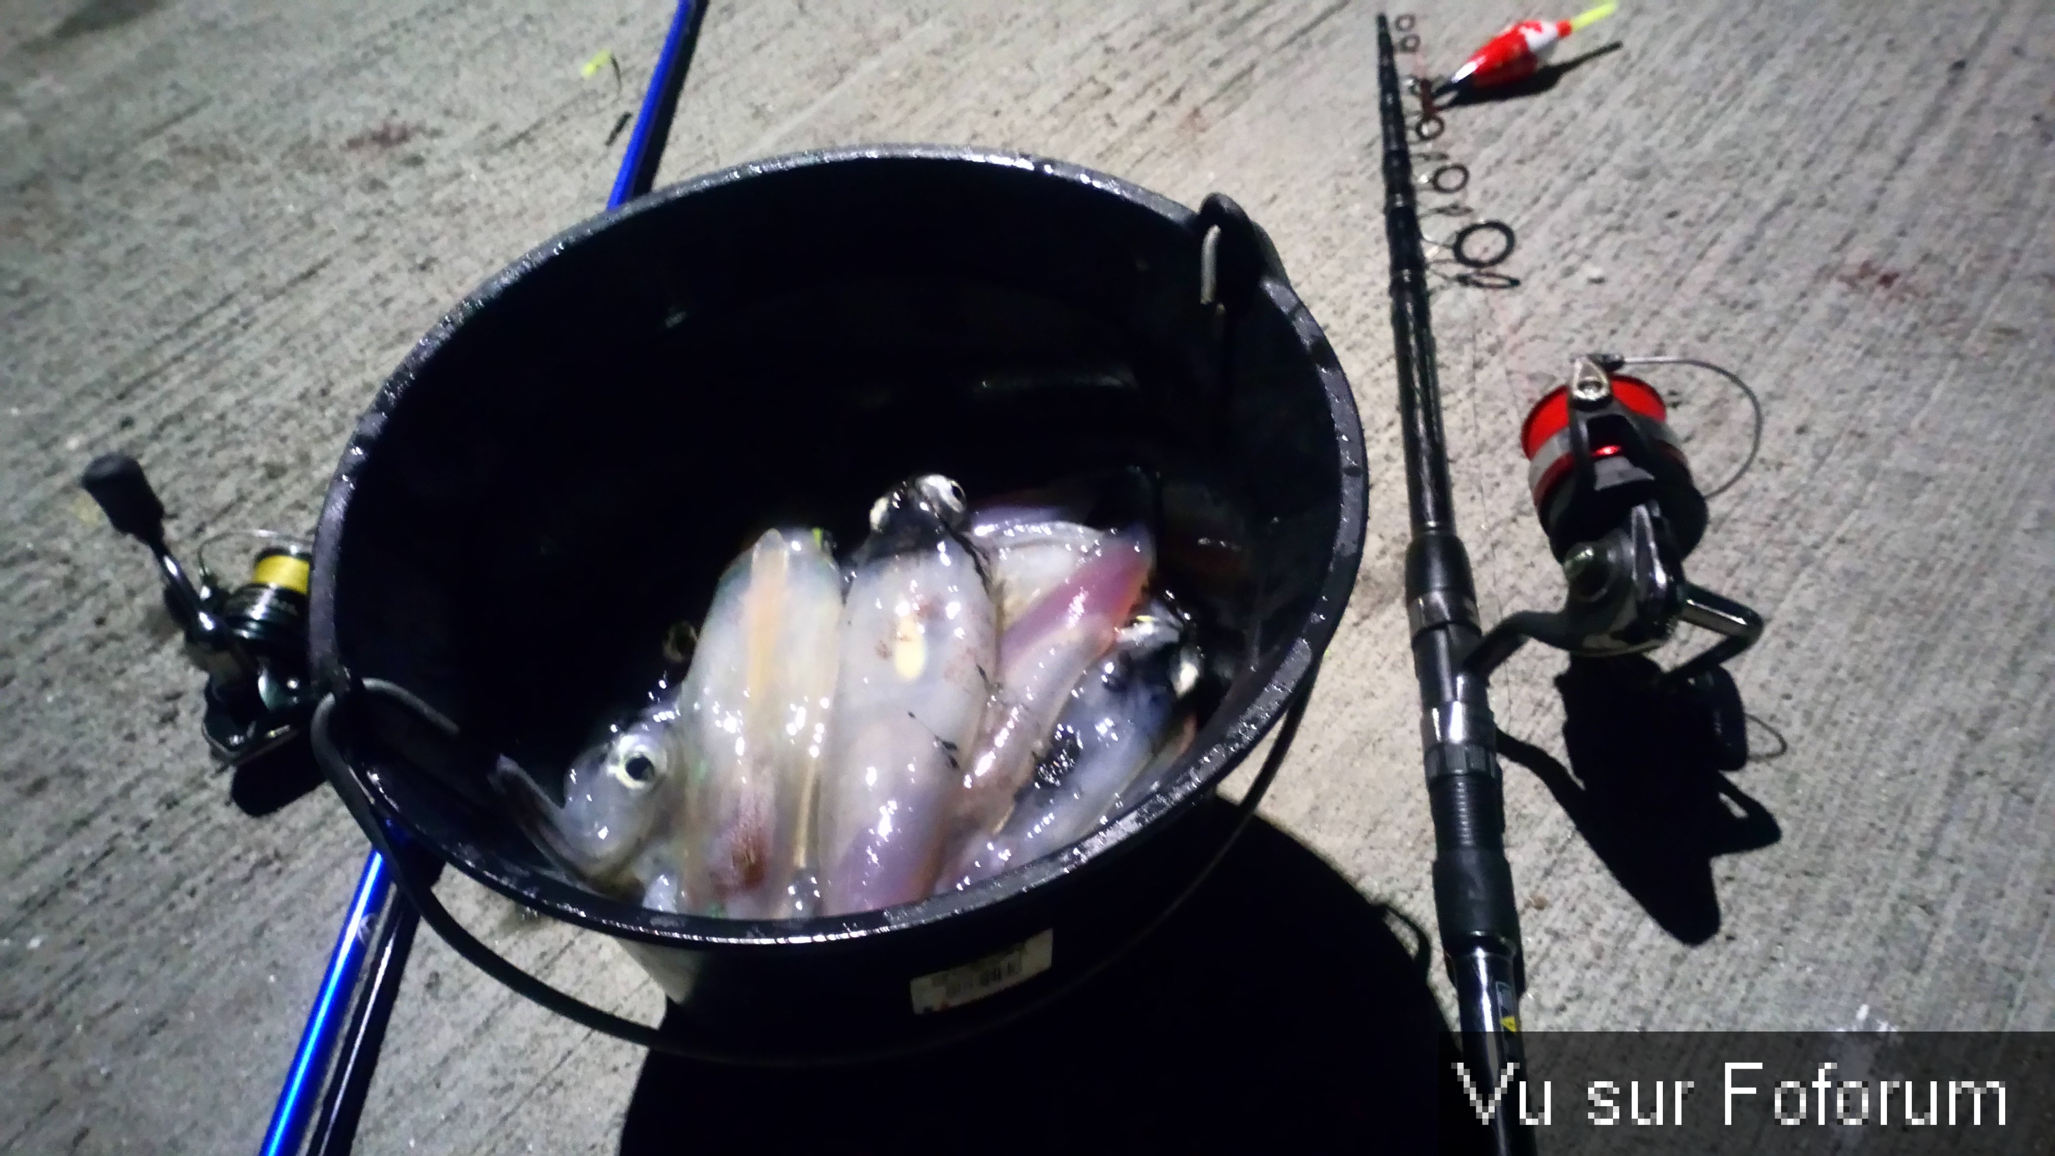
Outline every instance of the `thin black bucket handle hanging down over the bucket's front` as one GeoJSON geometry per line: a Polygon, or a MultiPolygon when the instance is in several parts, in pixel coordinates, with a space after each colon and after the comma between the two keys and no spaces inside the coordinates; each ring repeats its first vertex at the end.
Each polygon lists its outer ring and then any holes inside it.
{"type": "Polygon", "coordinates": [[[742,1057],[707,1047],[695,1047],[690,1041],[680,1039],[676,1031],[664,1031],[639,1020],[631,1020],[627,1016],[619,1016],[604,1008],[596,1008],[580,1000],[577,996],[571,996],[569,992],[553,988],[551,984],[538,979],[536,975],[530,975],[518,963],[499,955],[483,940],[473,936],[464,928],[464,924],[460,924],[456,916],[452,916],[450,910],[444,908],[442,901],[436,897],[436,887],[434,887],[436,875],[434,869],[423,866],[421,862],[425,858],[423,852],[419,848],[409,846],[405,842],[405,836],[401,836],[401,832],[386,817],[378,813],[378,805],[372,801],[370,791],[366,791],[358,768],[349,762],[349,756],[343,754],[343,749],[335,743],[335,737],[331,735],[331,725],[337,706],[345,706],[347,698],[376,694],[380,698],[388,698],[405,706],[421,721],[425,721],[429,727],[440,731],[444,737],[454,739],[458,735],[456,723],[450,721],[440,710],[436,710],[434,706],[429,706],[413,692],[409,692],[407,688],[395,682],[386,682],[382,678],[351,680],[349,688],[345,688],[341,696],[327,694],[323,696],[321,704],[314,706],[314,719],[308,725],[308,735],[314,745],[314,760],[327,774],[329,784],[335,786],[335,793],[341,795],[343,807],[347,807],[349,815],[358,821],[360,827],[364,827],[364,834],[370,838],[372,848],[380,856],[384,856],[384,860],[393,866],[393,879],[399,883],[401,895],[405,895],[407,901],[413,903],[417,912],[421,912],[421,920],[427,922],[427,926],[434,928],[436,934],[440,934],[442,940],[450,945],[450,949],[456,951],[456,955],[464,957],[473,967],[491,975],[503,986],[512,988],[516,994],[526,996],[528,1000],[540,1004],[551,1012],[557,1012],[559,1016],[575,1025],[610,1035],[625,1043],[633,1043],[637,1047],[645,1047],[649,1051],[662,1051],[666,1055],[678,1055],[682,1059],[695,1059],[703,1064],[740,1062],[767,1068],[808,1068],[808,1066],[828,1066],[828,1064],[892,1059],[898,1055],[912,1055],[919,1051],[929,1051],[935,1047],[956,1043],[960,1039],[968,1039],[972,1035],[1013,1023],[1034,1010],[1052,1004],[1054,1000],[1083,986],[1087,979],[1095,977],[1106,967],[1124,959],[1145,938],[1149,938],[1151,932],[1155,932],[1165,920],[1169,920],[1169,916],[1175,914],[1178,908],[1182,908],[1184,901],[1190,899],[1200,889],[1200,885],[1206,883],[1206,879],[1212,875],[1212,869],[1217,869],[1221,860],[1227,858],[1229,848],[1235,846],[1235,840],[1256,817],[1258,803],[1262,803],[1264,793],[1270,791],[1270,780],[1276,778],[1278,768],[1284,764],[1284,754],[1291,752],[1291,743],[1299,735],[1299,721],[1305,717],[1305,706],[1313,696],[1313,680],[1317,673],[1319,673],[1319,659],[1315,657],[1313,663],[1307,665],[1297,692],[1293,694],[1291,702],[1284,708],[1284,715],[1280,717],[1276,729],[1276,741],[1270,743],[1270,754],[1264,758],[1264,766],[1256,772],[1256,778],[1249,780],[1249,788],[1241,795],[1241,799],[1235,805],[1233,827],[1229,827],[1227,838],[1221,840],[1221,846],[1212,852],[1212,858],[1208,858],[1206,864],[1198,871],[1198,875],[1194,875],[1192,881],[1186,885],[1186,889],[1180,891],[1169,903],[1165,903],[1165,908],[1157,912],[1155,918],[1145,922],[1134,932],[1134,936],[1128,938],[1128,942],[1120,945],[1120,949],[1108,953],[1104,959],[1079,971],[1077,975],[1069,977],[1067,981],[1058,984],[1056,988],[1050,988],[1036,1000],[1030,1000],[1003,1016],[988,1020],[972,1020],[966,1023],[962,1031],[939,1033],[935,1037],[921,1039],[917,1043],[900,1047],[882,1047],[882,1049],[865,1049],[865,1051],[834,1053],[834,1055],[806,1055],[806,1057],[742,1057]]]}

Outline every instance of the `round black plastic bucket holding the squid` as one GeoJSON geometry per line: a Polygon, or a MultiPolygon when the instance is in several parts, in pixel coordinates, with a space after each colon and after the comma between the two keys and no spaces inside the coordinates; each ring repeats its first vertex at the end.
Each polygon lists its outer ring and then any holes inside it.
{"type": "Polygon", "coordinates": [[[1075,984],[1206,871],[1217,825],[1180,819],[1297,719],[1362,515],[1348,382],[1233,201],[972,148],[746,164],[528,253],[378,392],[316,538],[316,745],[432,926],[524,994],[621,1027],[485,955],[423,864],[625,940],[678,1002],[674,1035],[631,1039],[919,1047],[1075,984]],[[886,912],[672,916],[565,873],[489,788],[499,760],[553,784],[773,519],[853,544],[914,472],[997,493],[1104,466],[1159,480],[1161,573],[1221,696],[1165,786],[1062,854],[886,912]]]}

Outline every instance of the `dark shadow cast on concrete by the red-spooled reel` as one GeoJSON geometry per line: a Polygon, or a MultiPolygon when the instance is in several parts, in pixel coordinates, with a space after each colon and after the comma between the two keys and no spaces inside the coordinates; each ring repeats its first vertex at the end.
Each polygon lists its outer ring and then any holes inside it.
{"type": "Polygon", "coordinates": [[[1570,766],[1504,731],[1498,754],[1541,778],[1662,930],[1697,945],[1720,930],[1712,860],[1765,848],[1782,827],[1724,774],[1749,758],[1734,680],[1714,669],[1677,692],[1640,655],[1570,659],[1556,678],[1570,766]]]}

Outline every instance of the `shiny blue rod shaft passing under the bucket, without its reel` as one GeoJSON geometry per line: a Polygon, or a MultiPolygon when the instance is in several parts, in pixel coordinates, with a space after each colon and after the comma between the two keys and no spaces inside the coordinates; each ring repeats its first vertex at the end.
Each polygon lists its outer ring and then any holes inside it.
{"type": "MultiPolygon", "coordinates": [[[[705,0],[678,0],[664,35],[649,88],[643,92],[635,131],[606,207],[641,197],[656,185],[656,170],[670,140],[678,92],[693,66],[693,47],[705,21],[705,0]]],[[[140,478],[140,472],[138,472],[140,478]]],[[[397,832],[395,832],[397,842],[397,832]]],[[[405,844],[401,844],[405,854],[405,844]]],[[[434,869],[436,864],[429,864],[434,869]]],[[[386,1020],[399,996],[413,934],[421,916],[393,887],[393,871],[376,850],[349,899],[321,992],[306,1014],[292,1068],[279,1088],[263,1156],[341,1156],[356,1142],[364,1094],[370,1090],[386,1020]],[[316,1099],[319,1096],[319,1099],[316,1099]]]]}

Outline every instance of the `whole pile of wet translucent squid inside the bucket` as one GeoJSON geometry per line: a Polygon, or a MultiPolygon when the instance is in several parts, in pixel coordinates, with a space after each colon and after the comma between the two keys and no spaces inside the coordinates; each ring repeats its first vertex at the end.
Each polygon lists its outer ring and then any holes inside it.
{"type": "Polygon", "coordinates": [[[838,567],[771,530],[721,575],[684,680],[565,772],[501,791],[559,860],[649,908],[838,916],[968,887],[1155,788],[1192,725],[1188,622],[1141,526],[968,511],[929,474],[838,567]]]}

